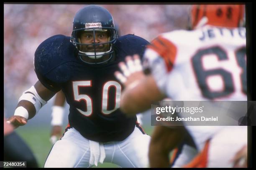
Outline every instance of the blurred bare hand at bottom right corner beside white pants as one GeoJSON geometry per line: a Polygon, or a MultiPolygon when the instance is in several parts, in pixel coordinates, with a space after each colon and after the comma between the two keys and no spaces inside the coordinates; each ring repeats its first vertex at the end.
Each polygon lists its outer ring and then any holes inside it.
{"type": "Polygon", "coordinates": [[[234,163],[233,168],[247,168],[247,145],[243,146],[231,161],[234,163]]]}

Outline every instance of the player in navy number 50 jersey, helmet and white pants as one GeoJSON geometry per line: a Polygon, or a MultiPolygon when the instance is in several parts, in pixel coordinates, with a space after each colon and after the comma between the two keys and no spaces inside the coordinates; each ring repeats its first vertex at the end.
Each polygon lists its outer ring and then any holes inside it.
{"type": "Polygon", "coordinates": [[[148,41],[135,35],[117,37],[113,17],[103,7],[89,5],[74,16],[71,37],[54,35],[35,52],[39,79],[23,92],[14,116],[25,125],[62,90],[69,104],[69,123],[46,158],[44,167],[91,167],[114,163],[146,167],[150,137],[119,109],[123,85],[114,76],[126,55],[142,57],[148,41]]]}

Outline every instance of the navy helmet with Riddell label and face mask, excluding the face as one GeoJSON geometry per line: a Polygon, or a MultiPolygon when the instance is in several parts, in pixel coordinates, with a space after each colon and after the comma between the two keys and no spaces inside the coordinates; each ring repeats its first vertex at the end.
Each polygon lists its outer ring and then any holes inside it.
{"type": "Polygon", "coordinates": [[[71,35],[71,42],[77,47],[78,56],[80,60],[87,64],[102,64],[108,62],[113,57],[113,43],[115,43],[117,35],[117,30],[115,29],[115,25],[113,22],[113,17],[108,10],[103,7],[96,5],[89,5],[83,7],[79,10],[74,16],[73,20],[73,31],[71,35]],[[79,35],[83,31],[93,31],[93,44],[83,44],[79,42],[79,35]],[[102,31],[108,33],[108,42],[96,43],[95,42],[95,32],[102,31]],[[96,52],[98,45],[109,44],[109,49],[104,52],[96,52]],[[92,46],[94,52],[84,52],[82,51],[82,46],[92,46]],[[106,60],[100,60],[102,56],[108,55],[109,57],[106,60]],[[93,62],[88,62],[83,60],[83,56],[89,57],[93,62]]]}

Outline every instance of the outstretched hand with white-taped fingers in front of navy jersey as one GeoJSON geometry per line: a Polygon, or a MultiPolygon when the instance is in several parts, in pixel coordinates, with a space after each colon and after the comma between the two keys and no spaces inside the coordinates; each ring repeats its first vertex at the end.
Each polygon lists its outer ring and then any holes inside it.
{"type": "Polygon", "coordinates": [[[126,56],[126,62],[120,62],[118,64],[120,71],[115,72],[115,77],[123,83],[125,87],[132,85],[133,83],[138,82],[143,77],[145,77],[142,71],[142,65],[139,55],[135,54],[133,57],[126,56]]]}

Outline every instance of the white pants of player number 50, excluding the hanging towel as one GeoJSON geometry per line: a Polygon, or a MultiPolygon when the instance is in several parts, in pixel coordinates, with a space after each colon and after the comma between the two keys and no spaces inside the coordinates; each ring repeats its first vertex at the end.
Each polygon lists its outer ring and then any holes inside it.
{"type": "MultiPolygon", "coordinates": [[[[148,147],[151,137],[135,127],[133,133],[120,142],[103,144],[105,163],[114,163],[122,168],[148,167],[148,147]]],[[[52,147],[44,168],[89,168],[89,140],[74,128],[70,128],[61,140],[52,147]]]]}

